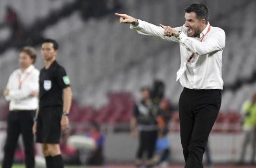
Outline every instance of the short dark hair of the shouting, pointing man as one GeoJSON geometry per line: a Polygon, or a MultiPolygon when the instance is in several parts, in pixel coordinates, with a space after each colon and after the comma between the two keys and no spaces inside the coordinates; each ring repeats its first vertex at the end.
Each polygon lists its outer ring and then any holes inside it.
{"type": "Polygon", "coordinates": [[[200,19],[205,19],[206,23],[210,19],[209,10],[203,3],[192,3],[187,8],[185,8],[186,13],[195,12],[196,17],[200,19]]]}

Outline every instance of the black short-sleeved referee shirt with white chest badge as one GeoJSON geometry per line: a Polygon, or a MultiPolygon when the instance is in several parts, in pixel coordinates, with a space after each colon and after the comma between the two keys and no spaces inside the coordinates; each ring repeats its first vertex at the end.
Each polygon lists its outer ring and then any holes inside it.
{"type": "Polygon", "coordinates": [[[70,86],[65,69],[54,61],[40,70],[39,107],[63,106],[63,89],[70,86]]]}

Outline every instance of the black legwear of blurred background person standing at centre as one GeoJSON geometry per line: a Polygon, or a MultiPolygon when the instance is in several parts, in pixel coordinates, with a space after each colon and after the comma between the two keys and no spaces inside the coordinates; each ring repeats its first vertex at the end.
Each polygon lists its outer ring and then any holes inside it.
{"type": "Polygon", "coordinates": [[[137,159],[142,159],[143,154],[147,153],[147,159],[152,159],[155,153],[157,131],[140,131],[139,148],[137,159]]]}

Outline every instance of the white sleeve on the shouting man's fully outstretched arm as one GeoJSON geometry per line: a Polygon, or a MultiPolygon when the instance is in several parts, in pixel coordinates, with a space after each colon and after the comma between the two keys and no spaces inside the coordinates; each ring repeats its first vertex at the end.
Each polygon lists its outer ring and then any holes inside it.
{"type": "MultiPolygon", "coordinates": [[[[138,26],[130,25],[130,28],[136,30],[137,33],[139,34],[161,38],[167,41],[179,42],[178,38],[174,36],[172,37],[164,36],[164,29],[161,26],[156,26],[139,19],[138,19],[138,22],[139,22],[138,26]]],[[[174,29],[176,29],[177,31],[180,31],[181,27],[176,27],[174,29]]]]}

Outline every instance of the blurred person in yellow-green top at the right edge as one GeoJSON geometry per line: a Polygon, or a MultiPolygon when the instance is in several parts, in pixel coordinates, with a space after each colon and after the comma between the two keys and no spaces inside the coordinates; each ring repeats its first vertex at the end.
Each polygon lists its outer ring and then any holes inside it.
{"type": "Polygon", "coordinates": [[[255,165],[256,152],[256,93],[252,94],[251,99],[244,102],[242,106],[242,128],[243,128],[243,145],[240,155],[239,164],[244,164],[247,147],[251,144],[250,163],[255,165]]]}

